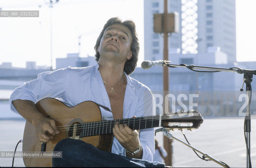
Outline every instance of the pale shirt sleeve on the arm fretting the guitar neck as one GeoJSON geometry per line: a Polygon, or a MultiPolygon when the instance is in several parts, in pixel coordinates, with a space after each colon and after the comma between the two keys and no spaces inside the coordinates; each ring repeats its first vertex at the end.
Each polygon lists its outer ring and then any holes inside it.
{"type": "MultiPolygon", "coordinates": [[[[143,95],[143,102],[139,108],[143,116],[154,116],[155,110],[153,109],[153,95],[151,91],[145,87],[143,95]]],[[[139,132],[139,140],[143,148],[143,160],[153,161],[153,154],[155,153],[155,129],[141,129],[139,132]]]]}

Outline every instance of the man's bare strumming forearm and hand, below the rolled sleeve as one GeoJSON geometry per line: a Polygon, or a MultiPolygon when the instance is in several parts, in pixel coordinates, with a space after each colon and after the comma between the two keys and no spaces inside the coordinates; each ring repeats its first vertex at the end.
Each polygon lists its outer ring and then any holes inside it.
{"type": "Polygon", "coordinates": [[[36,134],[41,142],[49,142],[60,131],[56,128],[55,121],[43,116],[36,108],[35,103],[30,100],[14,100],[13,106],[27,121],[30,121],[36,128],[36,134]]]}

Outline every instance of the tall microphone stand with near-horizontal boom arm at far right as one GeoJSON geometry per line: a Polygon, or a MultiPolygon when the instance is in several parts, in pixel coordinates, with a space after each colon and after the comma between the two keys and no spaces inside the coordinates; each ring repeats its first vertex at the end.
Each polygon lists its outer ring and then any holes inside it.
{"type": "MultiPolygon", "coordinates": [[[[218,68],[218,67],[206,67],[206,66],[194,66],[194,65],[176,65],[170,64],[168,61],[164,61],[163,66],[170,68],[184,67],[197,72],[218,72],[218,71],[227,71],[227,72],[237,72],[238,74],[244,74],[243,81],[246,84],[246,93],[247,93],[247,108],[244,119],[244,132],[245,132],[245,142],[246,142],[246,167],[251,167],[251,145],[250,145],[250,133],[251,133],[251,114],[250,114],[250,102],[251,102],[251,82],[253,75],[256,75],[256,70],[251,69],[242,69],[242,68],[218,68]],[[208,71],[198,71],[194,69],[204,69],[208,71]]],[[[243,91],[241,88],[240,91],[243,91]]],[[[210,158],[209,158],[210,159],[210,158]]]]}

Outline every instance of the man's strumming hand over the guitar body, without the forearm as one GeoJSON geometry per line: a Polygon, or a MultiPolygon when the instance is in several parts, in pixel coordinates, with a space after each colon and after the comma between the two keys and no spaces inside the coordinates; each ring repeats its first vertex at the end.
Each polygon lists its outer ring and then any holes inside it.
{"type": "Polygon", "coordinates": [[[53,119],[41,117],[37,121],[33,121],[33,124],[40,142],[49,142],[56,134],[60,133],[53,119]]]}

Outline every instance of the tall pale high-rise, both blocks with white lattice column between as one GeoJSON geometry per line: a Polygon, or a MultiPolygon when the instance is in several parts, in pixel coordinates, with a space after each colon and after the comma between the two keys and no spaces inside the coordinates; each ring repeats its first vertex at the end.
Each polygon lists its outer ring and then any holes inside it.
{"type": "MultiPolygon", "coordinates": [[[[164,1],[144,1],[145,59],[163,59],[163,37],[154,33],[154,13],[163,13],[164,1]]],[[[179,13],[179,33],[169,37],[169,50],[206,53],[219,46],[227,61],[236,61],[234,0],[168,0],[168,13],[179,13]]]]}

